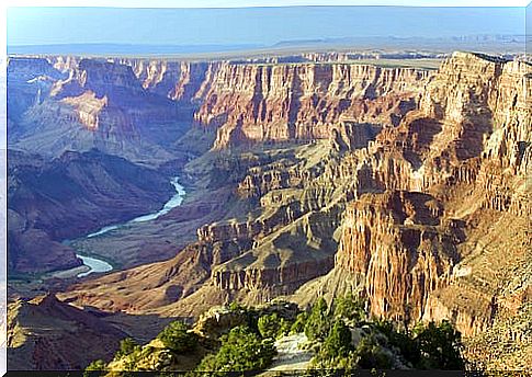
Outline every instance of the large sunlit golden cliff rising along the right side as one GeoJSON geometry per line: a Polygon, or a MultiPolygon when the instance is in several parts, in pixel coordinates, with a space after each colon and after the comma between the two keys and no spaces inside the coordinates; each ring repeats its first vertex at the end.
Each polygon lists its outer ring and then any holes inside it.
{"type": "Polygon", "coordinates": [[[518,261],[530,251],[531,69],[455,53],[419,110],[344,161],[358,199],[335,269],[354,275],[373,313],[446,318],[473,335],[522,312],[530,278],[510,288],[505,276],[525,276],[529,264],[518,261]]]}

